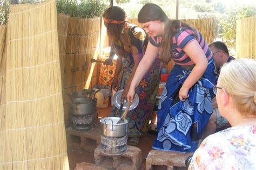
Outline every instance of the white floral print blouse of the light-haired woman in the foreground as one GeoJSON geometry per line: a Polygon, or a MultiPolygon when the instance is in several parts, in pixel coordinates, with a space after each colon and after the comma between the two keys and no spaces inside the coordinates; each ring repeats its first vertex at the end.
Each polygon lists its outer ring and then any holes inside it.
{"type": "Polygon", "coordinates": [[[194,152],[188,169],[256,169],[256,125],[208,136],[194,152]]]}

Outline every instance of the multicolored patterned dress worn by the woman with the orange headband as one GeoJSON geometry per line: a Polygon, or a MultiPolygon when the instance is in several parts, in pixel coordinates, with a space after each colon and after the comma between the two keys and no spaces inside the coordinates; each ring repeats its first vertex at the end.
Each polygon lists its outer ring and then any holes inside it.
{"type": "MultiPolygon", "coordinates": [[[[129,30],[129,44],[126,46],[134,46],[137,48],[138,53],[143,54],[146,43],[145,41],[146,34],[144,30],[138,26],[134,26],[129,30]]],[[[124,44],[122,44],[121,41],[114,44],[114,46],[116,49],[122,48],[125,51],[124,44]]],[[[123,67],[118,80],[118,90],[125,88],[125,84],[129,80],[133,66],[133,55],[125,52],[125,56],[123,56],[123,67]]],[[[140,137],[147,132],[159,87],[160,67],[160,59],[157,58],[153,62],[149,71],[143,77],[142,81],[139,83],[137,90],[139,104],[126,115],[126,119],[129,121],[129,137],[140,137]]],[[[119,109],[113,106],[111,113],[112,116],[119,116],[118,111],[119,109]]]]}

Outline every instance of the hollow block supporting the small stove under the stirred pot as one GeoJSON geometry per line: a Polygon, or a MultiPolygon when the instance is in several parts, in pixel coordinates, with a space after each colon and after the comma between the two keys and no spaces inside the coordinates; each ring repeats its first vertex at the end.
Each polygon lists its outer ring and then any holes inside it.
{"type": "Polygon", "coordinates": [[[95,149],[95,164],[107,169],[138,170],[142,166],[142,150],[136,146],[127,146],[122,155],[106,155],[100,151],[100,145],[95,149]]]}

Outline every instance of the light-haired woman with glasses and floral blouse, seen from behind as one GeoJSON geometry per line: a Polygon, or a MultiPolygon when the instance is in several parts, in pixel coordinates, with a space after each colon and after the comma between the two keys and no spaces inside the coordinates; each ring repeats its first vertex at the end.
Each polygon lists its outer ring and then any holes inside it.
{"type": "Polygon", "coordinates": [[[256,169],[256,60],[224,65],[213,91],[232,128],[208,136],[188,169],[256,169]]]}

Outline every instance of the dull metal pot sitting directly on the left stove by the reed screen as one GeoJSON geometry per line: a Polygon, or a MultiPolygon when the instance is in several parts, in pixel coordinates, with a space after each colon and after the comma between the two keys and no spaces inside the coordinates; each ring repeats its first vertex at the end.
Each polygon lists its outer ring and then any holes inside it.
{"type": "Polygon", "coordinates": [[[69,111],[73,115],[92,114],[92,100],[90,98],[76,98],[74,102],[69,102],[69,111]],[[76,102],[78,100],[78,102],[76,102]]]}

